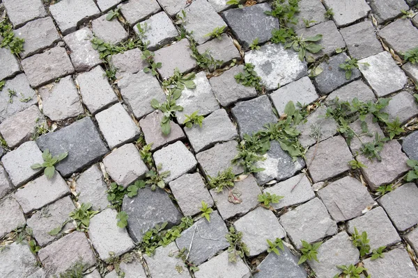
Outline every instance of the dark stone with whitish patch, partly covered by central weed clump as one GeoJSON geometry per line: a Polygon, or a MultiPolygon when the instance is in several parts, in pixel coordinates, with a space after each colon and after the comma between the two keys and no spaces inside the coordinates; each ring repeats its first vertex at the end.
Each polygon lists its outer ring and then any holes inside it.
{"type": "Polygon", "coordinates": [[[277,141],[270,142],[270,149],[264,154],[265,161],[256,162],[256,167],[263,168],[264,171],[256,173],[257,183],[262,185],[272,181],[283,181],[302,170],[305,166],[302,158],[293,158],[280,147],[277,141]]]}

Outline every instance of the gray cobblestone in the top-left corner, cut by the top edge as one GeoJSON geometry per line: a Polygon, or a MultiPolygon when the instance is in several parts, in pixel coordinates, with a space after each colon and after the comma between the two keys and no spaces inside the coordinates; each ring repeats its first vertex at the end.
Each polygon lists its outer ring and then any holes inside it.
{"type": "Polygon", "coordinates": [[[3,5],[15,28],[32,19],[47,15],[41,0],[3,0],[3,5]]]}

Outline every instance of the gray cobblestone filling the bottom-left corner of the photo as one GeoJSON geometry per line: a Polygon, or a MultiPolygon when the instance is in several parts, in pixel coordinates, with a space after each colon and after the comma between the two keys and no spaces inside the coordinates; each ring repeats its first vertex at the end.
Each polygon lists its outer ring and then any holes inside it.
{"type": "Polygon", "coordinates": [[[0,252],[1,277],[29,277],[38,269],[36,256],[26,242],[6,245],[5,250],[0,252]]]}

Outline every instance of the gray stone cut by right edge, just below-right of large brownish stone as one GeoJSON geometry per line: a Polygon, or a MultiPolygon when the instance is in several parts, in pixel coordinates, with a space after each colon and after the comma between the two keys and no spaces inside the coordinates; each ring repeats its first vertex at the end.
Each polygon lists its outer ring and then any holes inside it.
{"type": "Polygon", "coordinates": [[[378,200],[399,231],[418,223],[417,201],[418,188],[415,183],[405,183],[378,200]]]}

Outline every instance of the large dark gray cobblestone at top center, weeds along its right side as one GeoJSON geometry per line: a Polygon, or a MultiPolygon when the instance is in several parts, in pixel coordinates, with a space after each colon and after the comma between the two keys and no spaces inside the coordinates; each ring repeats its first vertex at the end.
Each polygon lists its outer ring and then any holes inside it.
{"type": "Polygon", "coordinates": [[[271,12],[268,3],[261,3],[245,8],[235,8],[222,13],[226,24],[240,44],[248,49],[249,44],[258,38],[263,44],[272,38],[273,29],[279,29],[279,19],[266,15],[271,12]]]}

